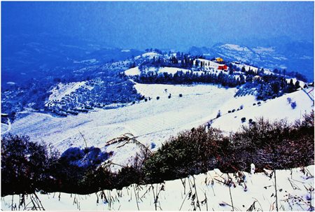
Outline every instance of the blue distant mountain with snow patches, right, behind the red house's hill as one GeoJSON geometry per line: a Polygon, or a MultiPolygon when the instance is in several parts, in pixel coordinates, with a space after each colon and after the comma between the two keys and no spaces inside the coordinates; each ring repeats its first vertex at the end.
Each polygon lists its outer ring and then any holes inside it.
{"type": "MultiPolygon", "coordinates": [[[[253,42],[250,42],[253,43],[253,42]]],[[[267,69],[286,69],[297,71],[314,80],[314,43],[307,41],[269,42],[273,45],[236,45],[217,43],[211,48],[195,47],[188,50],[193,55],[206,57],[223,57],[226,60],[237,60],[267,69]]]]}

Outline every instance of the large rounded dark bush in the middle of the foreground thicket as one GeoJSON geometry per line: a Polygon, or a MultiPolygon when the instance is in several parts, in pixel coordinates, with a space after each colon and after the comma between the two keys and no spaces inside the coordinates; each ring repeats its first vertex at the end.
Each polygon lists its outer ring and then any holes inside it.
{"type": "Polygon", "coordinates": [[[204,127],[181,132],[169,139],[144,163],[146,181],[162,182],[199,174],[216,167],[217,153],[228,152],[228,140],[218,129],[204,127]]]}

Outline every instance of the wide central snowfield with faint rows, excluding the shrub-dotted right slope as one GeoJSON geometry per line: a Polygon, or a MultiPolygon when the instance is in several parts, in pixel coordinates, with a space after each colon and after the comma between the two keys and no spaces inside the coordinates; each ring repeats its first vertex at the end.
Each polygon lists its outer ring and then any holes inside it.
{"type": "MultiPolygon", "coordinates": [[[[95,112],[66,118],[26,113],[25,117],[15,120],[11,132],[27,134],[34,141],[52,143],[60,152],[71,146],[84,146],[84,139],[87,146],[104,148],[106,141],[127,132],[138,136],[137,139],[146,145],[154,142],[158,148],[170,136],[215,118],[225,101],[234,98],[236,91],[235,88],[225,89],[214,85],[138,83],[135,88],[145,97],[151,97],[151,101],[109,110],[96,109],[95,112]],[[183,97],[179,97],[179,94],[183,97]]],[[[132,144],[119,150],[116,146],[108,146],[106,151],[114,151],[113,162],[125,164],[136,153],[135,148],[132,144]]]]}

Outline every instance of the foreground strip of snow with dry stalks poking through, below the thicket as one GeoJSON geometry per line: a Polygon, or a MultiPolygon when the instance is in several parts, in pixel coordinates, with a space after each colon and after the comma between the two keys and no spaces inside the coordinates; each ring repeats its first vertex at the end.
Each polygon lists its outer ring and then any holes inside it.
{"type": "Polygon", "coordinates": [[[20,196],[8,195],[1,197],[1,208],[31,209],[33,201],[48,211],[276,211],[276,206],[279,211],[314,211],[314,165],[277,170],[276,184],[271,174],[269,170],[258,174],[239,172],[236,177],[214,169],[165,183],[130,185],[90,195],[37,193],[41,204],[34,195],[26,195],[25,204],[19,206],[20,196]]]}

